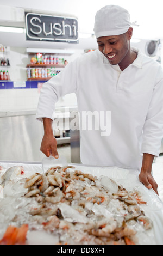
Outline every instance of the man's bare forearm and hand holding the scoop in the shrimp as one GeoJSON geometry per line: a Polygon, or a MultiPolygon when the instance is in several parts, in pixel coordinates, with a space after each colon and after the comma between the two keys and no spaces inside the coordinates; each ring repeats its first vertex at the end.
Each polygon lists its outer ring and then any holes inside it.
{"type": "Polygon", "coordinates": [[[45,154],[46,156],[54,156],[55,158],[58,158],[58,152],[57,152],[57,140],[54,137],[53,134],[53,120],[50,118],[42,118],[43,120],[43,128],[44,128],[44,136],[42,138],[41,143],[41,152],[45,154]]]}

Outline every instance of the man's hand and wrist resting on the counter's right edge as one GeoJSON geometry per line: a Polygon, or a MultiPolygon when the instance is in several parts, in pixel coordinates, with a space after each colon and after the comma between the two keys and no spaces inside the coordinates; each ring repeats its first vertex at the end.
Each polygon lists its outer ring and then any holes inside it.
{"type": "Polygon", "coordinates": [[[151,172],[152,172],[152,163],[154,156],[151,154],[143,154],[143,161],[141,167],[141,173],[139,175],[139,180],[142,182],[148,189],[153,188],[153,190],[158,194],[158,184],[156,184],[151,172]]]}

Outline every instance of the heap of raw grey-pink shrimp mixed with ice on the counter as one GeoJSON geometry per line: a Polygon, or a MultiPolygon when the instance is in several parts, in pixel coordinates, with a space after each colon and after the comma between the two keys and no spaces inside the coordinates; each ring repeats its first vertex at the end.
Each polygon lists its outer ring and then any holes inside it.
{"type": "Polygon", "coordinates": [[[26,179],[24,188],[24,197],[37,202],[37,207],[30,209],[31,220],[57,234],[60,245],[139,245],[134,226],[152,228],[140,208],[146,202],[139,191],[127,191],[118,184],[117,191],[111,192],[101,185],[100,178],[73,166],[35,173],[26,179]],[[71,207],[81,221],[64,218],[60,204],[71,207]]]}

